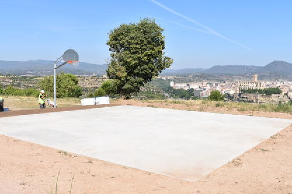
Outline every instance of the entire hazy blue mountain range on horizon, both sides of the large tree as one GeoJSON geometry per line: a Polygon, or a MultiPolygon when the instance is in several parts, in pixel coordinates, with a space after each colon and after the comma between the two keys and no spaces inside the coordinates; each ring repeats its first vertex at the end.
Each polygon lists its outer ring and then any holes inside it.
{"type": "MultiPolygon", "coordinates": [[[[29,61],[1,61],[0,73],[2,74],[34,74],[51,75],[53,74],[53,62],[49,60],[29,60],[29,61]]],[[[76,75],[102,75],[105,74],[107,64],[92,64],[80,62],[78,66],[67,64],[58,69],[58,72],[73,73],[76,75]]],[[[223,65],[213,66],[211,68],[184,68],[184,69],[166,69],[161,75],[183,75],[183,74],[217,74],[217,75],[240,75],[246,73],[270,73],[279,75],[292,75],[292,64],[286,61],[273,61],[266,66],[248,66],[248,65],[223,65]]]]}

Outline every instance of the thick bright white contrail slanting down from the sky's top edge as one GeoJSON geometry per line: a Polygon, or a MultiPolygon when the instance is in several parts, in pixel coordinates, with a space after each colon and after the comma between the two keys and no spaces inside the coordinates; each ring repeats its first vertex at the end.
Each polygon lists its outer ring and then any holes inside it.
{"type": "Polygon", "coordinates": [[[159,2],[156,1],[156,0],[150,0],[150,1],[152,1],[153,3],[157,4],[158,6],[164,8],[165,10],[168,10],[169,12],[171,12],[171,13],[173,13],[173,14],[175,14],[175,15],[178,15],[178,16],[180,16],[180,17],[186,19],[186,20],[189,20],[190,22],[193,22],[194,24],[197,24],[198,26],[200,26],[200,27],[202,27],[202,28],[208,30],[211,34],[213,34],[213,35],[215,35],[215,36],[218,36],[218,37],[220,37],[220,38],[223,38],[223,39],[225,39],[225,40],[227,40],[227,41],[229,41],[229,42],[232,42],[232,43],[237,44],[237,45],[239,45],[239,46],[241,46],[241,47],[244,47],[245,49],[247,49],[247,50],[249,50],[249,51],[252,51],[252,50],[251,50],[250,48],[248,48],[247,46],[245,46],[245,45],[243,45],[243,44],[241,44],[241,43],[238,43],[238,42],[236,42],[236,41],[234,41],[234,40],[231,40],[231,39],[229,39],[229,38],[226,38],[225,36],[223,36],[222,34],[216,32],[215,30],[213,30],[213,29],[211,29],[211,28],[209,28],[209,27],[207,27],[207,26],[205,26],[205,25],[203,25],[203,24],[197,22],[196,20],[193,20],[193,19],[190,18],[190,17],[187,17],[187,16],[185,16],[185,15],[183,15],[183,14],[181,14],[181,13],[178,13],[178,12],[172,10],[171,8],[166,7],[165,5],[159,3],[159,2]]]}

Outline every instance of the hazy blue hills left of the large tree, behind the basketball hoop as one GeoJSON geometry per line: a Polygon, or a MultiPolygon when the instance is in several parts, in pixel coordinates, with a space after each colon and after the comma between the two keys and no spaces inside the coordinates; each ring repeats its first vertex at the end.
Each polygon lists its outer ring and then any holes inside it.
{"type": "MultiPolygon", "coordinates": [[[[53,74],[53,62],[49,60],[29,60],[29,61],[1,61],[0,73],[3,74],[35,74],[35,75],[50,75],[53,74]]],[[[80,62],[78,66],[67,64],[66,66],[57,70],[57,72],[64,71],[66,73],[73,73],[76,75],[92,75],[105,74],[107,64],[91,64],[80,62]]]]}

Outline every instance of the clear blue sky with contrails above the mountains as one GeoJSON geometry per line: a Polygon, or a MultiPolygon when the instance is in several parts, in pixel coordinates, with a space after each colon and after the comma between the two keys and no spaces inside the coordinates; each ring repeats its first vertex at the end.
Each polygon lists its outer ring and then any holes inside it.
{"type": "Polygon", "coordinates": [[[171,68],[292,62],[292,1],[0,0],[0,60],[57,59],[104,64],[111,29],[156,18],[171,68]]]}

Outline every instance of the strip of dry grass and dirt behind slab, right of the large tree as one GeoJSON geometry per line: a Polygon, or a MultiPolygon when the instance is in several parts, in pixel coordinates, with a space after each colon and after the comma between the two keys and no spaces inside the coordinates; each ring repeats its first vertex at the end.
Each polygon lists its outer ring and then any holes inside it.
{"type": "Polygon", "coordinates": [[[112,100],[120,105],[135,105],[147,107],[170,108],[199,112],[214,112],[239,114],[258,117],[273,117],[292,119],[292,106],[277,106],[272,104],[216,102],[210,100],[112,100]]]}

